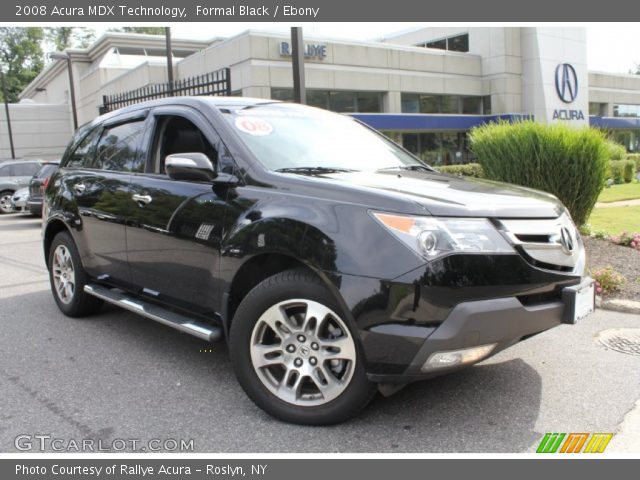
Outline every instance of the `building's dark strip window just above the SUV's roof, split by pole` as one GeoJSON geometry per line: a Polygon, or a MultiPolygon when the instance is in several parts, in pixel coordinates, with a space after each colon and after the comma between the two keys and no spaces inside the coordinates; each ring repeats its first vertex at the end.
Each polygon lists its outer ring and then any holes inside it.
{"type": "MultiPolygon", "coordinates": [[[[341,113],[380,113],[382,93],[307,89],[307,105],[341,113]]],[[[293,101],[292,88],[272,88],[271,98],[293,101]]]]}

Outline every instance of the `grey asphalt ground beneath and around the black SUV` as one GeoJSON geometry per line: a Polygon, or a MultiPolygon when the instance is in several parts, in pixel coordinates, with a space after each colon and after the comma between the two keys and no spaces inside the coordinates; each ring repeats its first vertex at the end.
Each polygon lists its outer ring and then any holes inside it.
{"type": "Polygon", "coordinates": [[[40,220],[0,216],[0,451],[19,435],[193,439],[196,452],[533,452],[545,432],[615,432],[640,398],[640,357],[594,336],[640,327],[597,311],[466,371],[376,397],[333,427],[274,420],[237,384],[227,347],[113,307],[64,317],[40,220]]]}

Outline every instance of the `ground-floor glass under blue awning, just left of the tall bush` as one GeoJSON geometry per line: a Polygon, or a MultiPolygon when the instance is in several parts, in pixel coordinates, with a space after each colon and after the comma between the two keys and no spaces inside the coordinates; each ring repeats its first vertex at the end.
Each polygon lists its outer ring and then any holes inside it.
{"type": "Polygon", "coordinates": [[[402,134],[402,145],[430,165],[471,163],[467,132],[425,132],[402,134]]]}

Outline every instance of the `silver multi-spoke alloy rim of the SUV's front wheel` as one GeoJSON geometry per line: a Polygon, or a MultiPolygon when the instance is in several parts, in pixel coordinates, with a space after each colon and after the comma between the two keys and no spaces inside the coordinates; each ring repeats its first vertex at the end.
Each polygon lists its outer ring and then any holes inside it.
{"type": "Polygon", "coordinates": [[[344,321],[306,299],[267,309],[253,328],[250,353],[262,384],[298,406],[324,405],[339,397],[356,365],[355,343],[344,321]]]}

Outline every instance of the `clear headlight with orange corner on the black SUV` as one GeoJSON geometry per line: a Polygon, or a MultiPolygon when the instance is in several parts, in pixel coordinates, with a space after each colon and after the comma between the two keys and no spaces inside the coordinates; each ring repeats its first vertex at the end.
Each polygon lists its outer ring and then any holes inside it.
{"type": "Polygon", "coordinates": [[[427,260],[450,252],[514,251],[486,218],[436,218],[371,213],[398,240],[427,260]]]}

